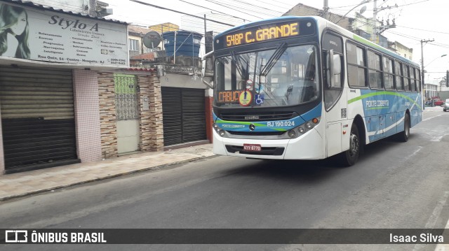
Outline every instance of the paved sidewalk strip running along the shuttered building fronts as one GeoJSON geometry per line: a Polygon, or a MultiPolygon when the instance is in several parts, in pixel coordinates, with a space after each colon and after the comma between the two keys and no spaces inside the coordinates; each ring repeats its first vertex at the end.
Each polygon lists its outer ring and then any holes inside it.
{"type": "Polygon", "coordinates": [[[213,156],[212,144],[205,144],[163,152],[136,153],[100,162],[86,162],[1,175],[0,201],[128,173],[192,162],[210,156],[213,156]]]}

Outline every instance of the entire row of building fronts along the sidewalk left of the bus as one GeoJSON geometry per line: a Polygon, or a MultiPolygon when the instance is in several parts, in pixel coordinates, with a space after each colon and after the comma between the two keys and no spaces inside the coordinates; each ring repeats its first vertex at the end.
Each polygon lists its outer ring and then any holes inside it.
{"type": "Polygon", "coordinates": [[[0,51],[0,175],[211,141],[200,59],[171,64],[142,46],[130,66],[129,39],[142,45],[148,29],[81,12],[87,2],[75,13],[0,1],[25,11],[32,34],[25,54],[0,51]]]}

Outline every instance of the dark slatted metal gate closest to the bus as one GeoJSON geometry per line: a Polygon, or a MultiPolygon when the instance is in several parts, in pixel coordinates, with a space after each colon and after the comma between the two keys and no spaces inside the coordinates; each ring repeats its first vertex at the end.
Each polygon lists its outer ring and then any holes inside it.
{"type": "Polygon", "coordinates": [[[206,140],[203,89],[162,87],[163,144],[206,140]]]}

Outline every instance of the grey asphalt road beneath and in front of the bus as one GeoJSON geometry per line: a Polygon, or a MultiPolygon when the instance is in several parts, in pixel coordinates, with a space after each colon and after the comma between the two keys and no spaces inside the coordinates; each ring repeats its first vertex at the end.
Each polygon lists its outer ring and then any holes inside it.
{"type": "MultiPolygon", "coordinates": [[[[161,171],[0,203],[0,228],[444,228],[449,113],[427,108],[408,143],[384,139],[358,163],[210,157],[161,171]]],[[[123,250],[4,245],[2,250],[123,250]],[[5,248],[5,249],[4,249],[5,248]]],[[[435,245],[128,245],[128,250],[434,250],[435,245]]]]}

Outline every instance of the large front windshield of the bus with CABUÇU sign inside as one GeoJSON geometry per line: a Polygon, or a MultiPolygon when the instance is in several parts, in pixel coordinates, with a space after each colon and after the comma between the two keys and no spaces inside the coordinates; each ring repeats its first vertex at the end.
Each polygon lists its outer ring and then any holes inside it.
{"type": "Polygon", "coordinates": [[[215,106],[294,106],[319,98],[314,45],[230,54],[215,59],[215,106]]]}

